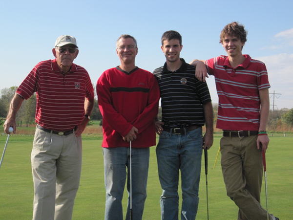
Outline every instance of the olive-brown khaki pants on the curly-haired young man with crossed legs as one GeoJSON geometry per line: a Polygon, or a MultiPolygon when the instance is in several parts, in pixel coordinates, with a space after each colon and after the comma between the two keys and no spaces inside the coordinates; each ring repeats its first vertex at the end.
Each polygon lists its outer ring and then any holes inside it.
{"type": "Polygon", "coordinates": [[[256,135],[223,137],[220,142],[224,182],[227,195],[239,207],[238,220],[267,220],[260,205],[263,164],[256,139],[256,135]]]}

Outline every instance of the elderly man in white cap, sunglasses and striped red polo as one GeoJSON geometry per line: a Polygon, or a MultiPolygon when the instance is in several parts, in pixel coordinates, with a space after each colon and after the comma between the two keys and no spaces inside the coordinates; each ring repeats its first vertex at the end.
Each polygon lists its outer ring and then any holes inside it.
{"type": "Polygon", "coordinates": [[[71,220],[82,167],[82,139],[94,105],[87,71],[73,60],[76,39],[60,36],[56,59],[37,64],[11,101],[4,131],[13,127],[24,99],[37,94],[37,128],[31,154],[35,188],[33,220],[71,220]]]}

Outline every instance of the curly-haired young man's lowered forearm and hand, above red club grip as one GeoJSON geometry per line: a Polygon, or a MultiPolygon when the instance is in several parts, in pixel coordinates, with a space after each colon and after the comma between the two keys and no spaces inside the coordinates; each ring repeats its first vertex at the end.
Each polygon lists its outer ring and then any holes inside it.
{"type": "MultiPolygon", "coordinates": [[[[259,90],[259,98],[260,98],[260,121],[259,121],[259,129],[258,131],[266,131],[267,121],[270,112],[270,96],[269,96],[269,88],[264,88],[259,90]]],[[[262,145],[263,151],[266,153],[266,150],[269,145],[269,137],[268,135],[259,135],[256,140],[257,149],[260,148],[260,143],[262,145]]]]}

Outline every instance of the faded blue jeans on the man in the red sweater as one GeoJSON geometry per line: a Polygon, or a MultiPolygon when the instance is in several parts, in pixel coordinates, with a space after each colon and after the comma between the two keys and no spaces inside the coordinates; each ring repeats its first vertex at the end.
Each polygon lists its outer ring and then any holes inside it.
{"type": "MultiPolygon", "coordinates": [[[[122,198],[127,177],[128,205],[130,209],[129,148],[103,148],[106,188],[105,220],[123,220],[122,198]]],[[[131,148],[132,170],[132,218],[141,220],[146,200],[146,183],[149,164],[149,148],[131,148]]]]}

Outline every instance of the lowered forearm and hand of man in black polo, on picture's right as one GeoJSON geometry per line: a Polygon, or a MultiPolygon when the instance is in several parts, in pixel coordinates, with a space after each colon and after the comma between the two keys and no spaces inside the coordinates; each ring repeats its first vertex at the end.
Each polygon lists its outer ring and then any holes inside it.
{"type": "Polygon", "coordinates": [[[210,148],[213,143],[213,109],[211,102],[203,105],[205,121],[206,121],[206,133],[204,135],[204,149],[210,148]]]}

